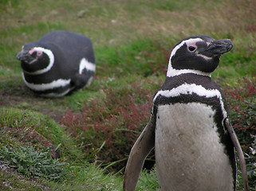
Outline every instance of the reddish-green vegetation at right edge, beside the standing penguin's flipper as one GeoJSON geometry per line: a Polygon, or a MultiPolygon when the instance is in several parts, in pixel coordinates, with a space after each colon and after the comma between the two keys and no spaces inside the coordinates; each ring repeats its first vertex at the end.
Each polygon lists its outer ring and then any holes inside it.
{"type": "Polygon", "coordinates": [[[246,152],[246,170],[249,185],[254,188],[256,181],[256,76],[238,81],[240,88],[226,87],[224,93],[230,108],[230,118],[242,150],[246,152]]]}

